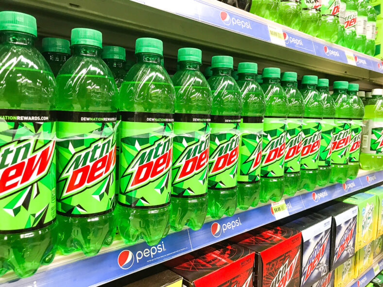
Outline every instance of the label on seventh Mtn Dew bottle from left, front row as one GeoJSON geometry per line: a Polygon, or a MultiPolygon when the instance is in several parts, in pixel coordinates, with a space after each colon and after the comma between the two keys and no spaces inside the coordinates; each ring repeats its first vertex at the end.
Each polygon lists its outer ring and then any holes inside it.
{"type": "Polygon", "coordinates": [[[261,177],[283,177],[286,150],[286,118],[263,121],[261,177]]]}

